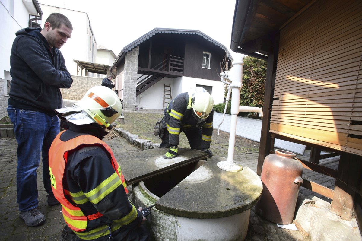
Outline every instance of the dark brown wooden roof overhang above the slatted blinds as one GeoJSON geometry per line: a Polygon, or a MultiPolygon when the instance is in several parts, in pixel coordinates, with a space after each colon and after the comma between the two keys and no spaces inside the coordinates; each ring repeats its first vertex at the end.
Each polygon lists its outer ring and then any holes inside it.
{"type": "Polygon", "coordinates": [[[274,35],[316,0],[236,0],[231,50],[259,59],[273,52],[274,35]]]}

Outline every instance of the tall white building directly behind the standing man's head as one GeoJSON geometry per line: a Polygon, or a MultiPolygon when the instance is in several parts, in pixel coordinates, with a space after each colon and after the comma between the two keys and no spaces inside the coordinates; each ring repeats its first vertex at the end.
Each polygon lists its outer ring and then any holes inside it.
{"type": "MultiPolygon", "coordinates": [[[[97,57],[97,43],[90,28],[88,14],[45,4],[40,4],[40,7],[43,11],[42,27],[51,13],[62,13],[72,23],[71,38],[60,48],[71,75],[77,75],[77,64],[73,59],[94,63],[97,57]]],[[[78,75],[81,73],[79,72],[78,75]]],[[[83,75],[85,75],[84,71],[83,75]]]]}

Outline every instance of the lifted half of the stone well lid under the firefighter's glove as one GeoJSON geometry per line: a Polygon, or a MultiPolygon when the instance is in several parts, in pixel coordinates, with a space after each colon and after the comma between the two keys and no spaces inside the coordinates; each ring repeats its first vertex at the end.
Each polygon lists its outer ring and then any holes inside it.
{"type": "Polygon", "coordinates": [[[179,157],[164,159],[169,148],[148,149],[126,156],[120,163],[127,185],[174,170],[191,162],[207,158],[203,151],[178,148],[179,157]]]}

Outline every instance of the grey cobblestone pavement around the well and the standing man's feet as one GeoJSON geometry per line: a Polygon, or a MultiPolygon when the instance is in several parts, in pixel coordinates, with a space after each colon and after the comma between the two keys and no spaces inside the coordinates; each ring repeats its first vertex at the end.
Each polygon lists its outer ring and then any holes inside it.
{"type": "MultiPolygon", "coordinates": [[[[140,151],[138,147],[127,143],[123,138],[113,138],[106,140],[114,152],[115,157],[121,163],[126,155],[140,151]]],[[[59,240],[60,233],[64,227],[64,220],[60,212],[60,205],[48,206],[46,202],[46,191],[43,187],[42,181],[42,167],[38,168],[38,190],[39,190],[39,207],[41,212],[46,217],[46,222],[38,227],[28,227],[19,218],[18,205],[16,203],[16,157],[17,143],[14,138],[0,138],[0,240],[13,241],[13,240],[59,240]]],[[[308,152],[307,152],[308,153],[308,152]]],[[[332,168],[338,166],[338,157],[328,158],[322,160],[332,168]]],[[[244,166],[248,166],[256,172],[258,153],[245,153],[235,155],[235,161],[244,166]]],[[[308,157],[305,158],[308,160],[308,157]]],[[[41,163],[41,162],[40,162],[41,163]]],[[[41,164],[40,164],[41,165],[41,164]]],[[[304,170],[303,178],[309,178],[319,184],[333,188],[334,179],[321,174],[304,170]]],[[[308,196],[318,196],[319,194],[313,193],[307,189],[300,189],[300,193],[308,196]]],[[[324,198],[323,196],[319,196],[324,198]]],[[[324,198],[327,202],[330,200],[324,198]]],[[[310,238],[305,236],[301,231],[290,231],[288,229],[281,229],[276,224],[271,223],[259,216],[251,210],[249,221],[249,229],[247,241],[284,241],[284,240],[299,240],[309,241],[310,238]]]]}

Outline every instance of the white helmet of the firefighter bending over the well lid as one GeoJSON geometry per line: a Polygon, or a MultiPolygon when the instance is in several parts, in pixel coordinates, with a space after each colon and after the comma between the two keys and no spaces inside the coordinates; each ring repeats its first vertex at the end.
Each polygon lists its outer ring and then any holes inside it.
{"type": "Polygon", "coordinates": [[[214,98],[209,92],[197,92],[191,99],[193,117],[196,120],[206,119],[214,107],[214,98]]]}

